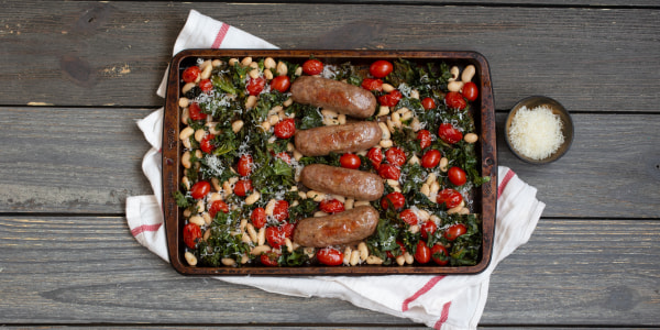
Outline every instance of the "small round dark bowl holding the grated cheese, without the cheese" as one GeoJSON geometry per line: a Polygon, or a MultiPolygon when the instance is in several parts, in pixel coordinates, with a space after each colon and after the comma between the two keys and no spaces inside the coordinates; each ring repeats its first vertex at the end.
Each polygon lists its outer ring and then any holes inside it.
{"type": "Polygon", "coordinates": [[[571,147],[571,144],[573,143],[573,120],[571,119],[571,114],[569,113],[569,111],[560,102],[558,102],[549,97],[532,96],[532,97],[528,97],[526,99],[520,100],[516,106],[514,106],[512,111],[509,111],[509,114],[506,118],[504,135],[506,138],[506,144],[508,145],[509,150],[514,153],[514,155],[516,155],[521,161],[529,163],[529,164],[538,164],[538,165],[548,164],[548,163],[552,163],[552,162],[561,158],[571,147]],[[509,136],[509,128],[512,125],[512,121],[513,121],[514,117],[516,116],[516,113],[518,112],[518,110],[520,108],[527,107],[527,109],[531,110],[539,106],[547,106],[548,108],[550,108],[552,110],[552,113],[559,116],[559,119],[562,122],[561,132],[564,136],[564,141],[559,146],[559,148],[554,153],[552,153],[550,156],[542,158],[542,160],[532,160],[532,158],[519,153],[513,146],[513,144],[510,142],[510,136],[509,136]]]}

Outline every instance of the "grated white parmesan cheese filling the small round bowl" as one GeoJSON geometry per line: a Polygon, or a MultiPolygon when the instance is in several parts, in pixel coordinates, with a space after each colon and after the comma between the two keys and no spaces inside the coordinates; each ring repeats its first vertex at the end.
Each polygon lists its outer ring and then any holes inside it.
{"type": "Polygon", "coordinates": [[[543,160],[563,143],[561,120],[547,106],[534,109],[522,107],[516,112],[508,130],[512,146],[520,154],[543,160]]]}

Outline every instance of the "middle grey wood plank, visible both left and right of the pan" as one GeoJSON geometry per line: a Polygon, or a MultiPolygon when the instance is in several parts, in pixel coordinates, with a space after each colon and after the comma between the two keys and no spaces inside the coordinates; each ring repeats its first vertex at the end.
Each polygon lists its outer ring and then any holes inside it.
{"type": "MultiPolygon", "coordinates": [[[[121,213],[127,196],[153,194],[141,168],[148,144],[134,123],[151,111],[0,108],[0,211],[121,213]],[[44,113],[47,124],[36,125],[44,113]]],[[[660,218],[660,116],[573,119],[575,141],[560,161],[525,164],[499,131],[499,164],[539,189],[543,216],[660,218]]]]}

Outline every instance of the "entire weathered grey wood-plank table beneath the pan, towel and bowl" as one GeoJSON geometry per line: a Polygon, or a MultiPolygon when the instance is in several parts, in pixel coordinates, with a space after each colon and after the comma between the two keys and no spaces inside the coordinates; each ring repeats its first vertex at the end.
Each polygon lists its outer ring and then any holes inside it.
{"type": "Polygon", "coordinates": [[[131,237],[125,198],[152,194],[135,120],[163,106],[155,89],[196,9],[282,48],[485,55],[499,164],[548,206],[494,272],[481,326],[660,327],[657,1],[282,2],[0,1],[1,324],[420,327],[185,277],[131,237]],[[546,166],[502,140],[507,111],[531,95],[575,122],[571,151],[546,166]]]}

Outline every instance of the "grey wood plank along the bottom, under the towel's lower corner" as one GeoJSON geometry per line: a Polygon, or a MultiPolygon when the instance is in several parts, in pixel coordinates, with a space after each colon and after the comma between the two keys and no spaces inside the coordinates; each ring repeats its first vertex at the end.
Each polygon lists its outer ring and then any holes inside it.
{"type": "MultiPolygon", "coordinates": [[[[120,217],[0,217],[0,323],[415,327],[336,299],[178,275],[120,217]]],[[[496,268],[482,323],[660,326],[659,274],[658,221],[542,219],[496,268]]]]}

